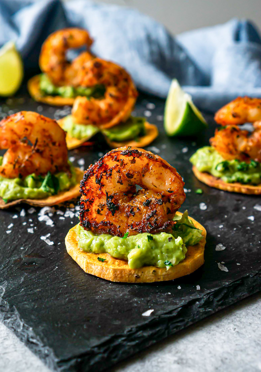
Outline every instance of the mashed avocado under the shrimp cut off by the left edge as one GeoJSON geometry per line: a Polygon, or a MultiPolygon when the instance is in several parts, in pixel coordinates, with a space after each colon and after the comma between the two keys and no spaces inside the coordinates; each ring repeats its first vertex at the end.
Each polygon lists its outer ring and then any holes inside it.
{"type": "MultiPolygon", "coordinates": [[[[0,157],[0,165],[3,157],[0,157]]],[[[0,177],[0,197],[4,202],[16,199],[44,199],[56,195],[61,191],[70,189],[76,185],[75,169],[70,167],[71,174],[59,172],[56,174],[47,173],[45,177],[30,174],[24,179],[8,179],[0,177]]]]}

